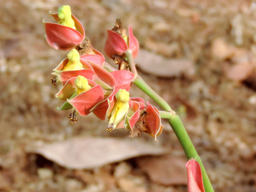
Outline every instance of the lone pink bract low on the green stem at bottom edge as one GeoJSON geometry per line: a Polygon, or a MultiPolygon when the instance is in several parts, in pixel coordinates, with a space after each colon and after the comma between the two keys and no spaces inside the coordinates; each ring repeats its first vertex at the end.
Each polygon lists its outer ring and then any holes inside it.
{"type": "Polygon", "coordinates": [[[195,159],[186,163],[188,192],[205,192],[200,164],[195,159]]]}

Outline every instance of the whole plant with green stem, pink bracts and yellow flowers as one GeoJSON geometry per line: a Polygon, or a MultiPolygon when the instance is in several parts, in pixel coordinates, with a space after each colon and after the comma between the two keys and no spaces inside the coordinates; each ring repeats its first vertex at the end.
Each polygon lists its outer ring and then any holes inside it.
{"type": "Polygon", "coordinates": [[[117,19],[116,26],[107,30],[104,50],[113,63],[119,65],[119,70],[116,70],[105,62],[104,56],[85,38],[83,26],[71,14],[69,6],[62,6],[58,13],[51,15],[58,23],[44,21],[47,43],[55,49],[71,50],[52,73],[57,76],[52,79],[53,85],[62,86],[56,97],[65,101],[58,109],[72,109],[69,116],[71,123],[77,121],[78,114],[86,116],[92,112],[101,120],[107,117],[108,131],[125,128],[130,130],[130,138],[145,132],[153,136],[155,141],[163,129],[161,119],[167,119],[188,159],[188,190],[213,191],[202,161],[179,116],[137,74],[134,58],[138,55],[139,43],[132,27],[129,27],[127,35],[122,20],[117,19]],[[142,98],[130,98],[132,83],[163,110],[158,110],[148,101],[145,103],[142,98]]]}

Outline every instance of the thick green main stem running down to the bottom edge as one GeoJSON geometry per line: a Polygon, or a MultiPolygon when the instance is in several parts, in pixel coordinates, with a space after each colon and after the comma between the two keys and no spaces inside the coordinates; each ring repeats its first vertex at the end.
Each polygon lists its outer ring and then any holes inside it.
{"type": "MultiPolygon", "coordinates": [[[[160,105],[160,107],[162,107],[165,111],[168,111],[169,113],[172,114],[172,115],[170,115],[171,117],[169,117],[169,119],[167,119],[167,121],[171,125],[174,133],[176,134],[179,142],[181,143],[181,146],[186,154],[187,160],[196,159],[198,161],[198,163],[200,164],[201,170],[202,170],[202,177],[203,177],[205,191],[206,192],[214,192],[214,190],[211,186],[211,182],[210,182],[208,175],[205,171],[205,168],[203,166],[203,163],[202,163],[200,157],[198,156],[198,153],[197,153],[195,147],[193,146],[179,116],[171,109],[171,107],[152,88],[150,88],[147,85],[147,83],[145,83],[145,81],[143,81],[143,79],[140,76],[137,76],[134,79],[134,84],[137,87],[139,87],[142,91],[144,91],[148,96],[150,96],[154,101],[156,101],[160,105]]],[[[160,113],[160,115],[161,115],[161,113],[160,113]]],[[[163,116],[166,115],[166,117],[167,117],[167,114],[162,113],[162,115],[163,116]]],[[[161,115],[161,117],[162,117],[162,115],[161,115]]]]}

